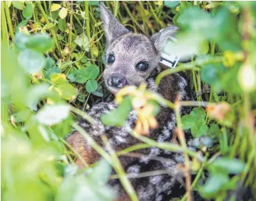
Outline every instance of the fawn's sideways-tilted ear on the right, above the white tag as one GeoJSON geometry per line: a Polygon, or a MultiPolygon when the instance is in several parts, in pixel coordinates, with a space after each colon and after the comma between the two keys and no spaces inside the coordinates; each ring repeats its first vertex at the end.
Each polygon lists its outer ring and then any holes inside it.
{"type": "Polygon", "coordinates": [[[178,32],[178,27],[170,26],[151,36],[151,41],[156,49],[160,52],[165,46],[167,38],[175,37],[178,32]]]}

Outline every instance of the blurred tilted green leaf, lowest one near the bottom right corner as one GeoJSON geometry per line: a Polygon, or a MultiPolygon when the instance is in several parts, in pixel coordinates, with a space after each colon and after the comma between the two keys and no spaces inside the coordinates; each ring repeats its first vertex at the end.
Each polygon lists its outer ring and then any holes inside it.
{"type": "Polygon", "coordinates": [[[199,188],[199,192],[204,198],[215,197],[221,188],[229,183],[229,177],[223,172],[215,172],[215,174],[210,175],[204,186],[199,188]]]}

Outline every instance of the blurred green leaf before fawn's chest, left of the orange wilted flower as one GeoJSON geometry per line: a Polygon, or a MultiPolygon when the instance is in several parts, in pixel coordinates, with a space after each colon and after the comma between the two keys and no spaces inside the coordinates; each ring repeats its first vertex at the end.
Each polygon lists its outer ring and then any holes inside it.
{"type": "Polygon", "coordinates": [[[117,107],[117,109],[114,109],[107,114],[103,114],[100,116],[100,120],[103,122],[103,124],[108,126],[122,127],[130,111],[131,98],[126,97],[124,101],[117,107]]]}

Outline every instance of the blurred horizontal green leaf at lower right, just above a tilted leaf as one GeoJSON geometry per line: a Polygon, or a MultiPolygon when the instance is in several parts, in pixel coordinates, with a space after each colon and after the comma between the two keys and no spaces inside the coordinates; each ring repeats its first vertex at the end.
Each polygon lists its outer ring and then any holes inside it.
{"type": "Polygon", "coordinates": [[[241,172],[243,172],[243,169],[245,168],[245,164],[234,158],[234,159],[230,159],[230,158],[217,158],[215,161],[213,161],[210,164],[210,171],[215,171],[215,172],[219,172],[219,171],[224,171],[224,172],[228,172],[229,174],[239,174],[241,172]]]}

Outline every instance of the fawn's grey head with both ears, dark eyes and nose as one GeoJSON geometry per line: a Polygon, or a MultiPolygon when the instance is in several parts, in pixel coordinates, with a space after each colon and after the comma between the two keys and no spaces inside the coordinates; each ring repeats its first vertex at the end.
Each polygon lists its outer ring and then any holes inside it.
{"type": "Polygon", "coordinates": [[[116,94],[125,85],[140,85],[161,70],[159,59],[165,40],[175,36],[177,27],[167,27],[151,37],[126,29],[100,2],[100,16],[107,39],[105,85],[116,94]]]}

